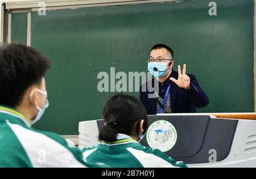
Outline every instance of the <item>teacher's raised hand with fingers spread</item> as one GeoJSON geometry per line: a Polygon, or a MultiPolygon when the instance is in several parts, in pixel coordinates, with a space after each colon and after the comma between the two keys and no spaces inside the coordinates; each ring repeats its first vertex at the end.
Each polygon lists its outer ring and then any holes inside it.
{"type": "Polygon", "coordinates": [[[181,74],[180,65],[178,66],[178,74],[179,74],[178,79],[170,78],[170,80],[176,83],[177,86],[179,86],[180,88],[184,88],[185,90],[188,90],[188,88],[190,87],[190,78],[188,75],[186,75],[186,64],[183,65],[182,74],[181,74]]]}

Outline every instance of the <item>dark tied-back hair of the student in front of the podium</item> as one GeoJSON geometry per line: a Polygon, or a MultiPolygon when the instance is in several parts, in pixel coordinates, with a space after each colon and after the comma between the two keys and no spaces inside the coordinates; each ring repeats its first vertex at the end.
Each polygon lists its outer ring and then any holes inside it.
{"type": "Polygon", "coordinates": [[[106,103],[102,113],[106,126],[101,129],[99,140],[114,142],[118,133],[139,136],[142,119],[143,133],[146,133],[147,111],[142,102],[134,96],[124,94],[113,96],[106,103]]]}

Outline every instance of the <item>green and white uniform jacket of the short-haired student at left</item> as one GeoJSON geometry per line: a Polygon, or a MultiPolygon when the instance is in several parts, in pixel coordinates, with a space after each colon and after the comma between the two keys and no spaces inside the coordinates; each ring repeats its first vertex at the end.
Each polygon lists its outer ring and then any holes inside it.
{"type": "Polygon", "coordinates": [[[99,167],[57,134],[39,131],[15,109],[0,106],[0,167],[99,167]]]}

